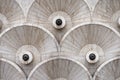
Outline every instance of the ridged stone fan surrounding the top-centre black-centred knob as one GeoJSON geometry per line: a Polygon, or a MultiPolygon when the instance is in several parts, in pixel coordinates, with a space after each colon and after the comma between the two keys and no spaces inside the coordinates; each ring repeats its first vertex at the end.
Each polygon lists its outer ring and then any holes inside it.
{"type": "Polygon", "coordinates": [[[89,20],[90,10],[84,0],[35,0],[28,12],[29,22],[44,25],[59,41],[72,25],[89,20]],[[54,29],[52,22],[56,16],[63,16],[66,20],[62,33],[54,29]]]}

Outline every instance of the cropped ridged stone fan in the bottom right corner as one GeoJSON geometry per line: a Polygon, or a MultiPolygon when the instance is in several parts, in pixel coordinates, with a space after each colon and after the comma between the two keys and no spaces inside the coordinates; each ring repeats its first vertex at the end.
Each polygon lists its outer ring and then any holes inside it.
{"type": "Polygon", "coordinates": [[[96,71],[94,80],[119,80],[120,79],[120,57],[103,63],[96,71]]]}

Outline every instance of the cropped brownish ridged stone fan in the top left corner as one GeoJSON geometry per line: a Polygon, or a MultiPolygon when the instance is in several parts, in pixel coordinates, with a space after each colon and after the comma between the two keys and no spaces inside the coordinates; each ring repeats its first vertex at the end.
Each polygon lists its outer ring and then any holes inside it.
{"type": "Polygon", "coordinates": [[[16,0],[0,0],[0,29],[23,22],[24,14],[16,0]]]}

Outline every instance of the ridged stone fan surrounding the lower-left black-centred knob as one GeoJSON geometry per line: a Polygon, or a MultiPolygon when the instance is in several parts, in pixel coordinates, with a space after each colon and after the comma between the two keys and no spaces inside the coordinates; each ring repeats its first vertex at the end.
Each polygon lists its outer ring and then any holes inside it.
{"type": "Polygon", "coordinates": [[[0,35],[0,56],[19,64],[26,73],[40,61],[56,56],[58,45],[55,38],[46,29],[34,26],[17,26],[0,35]],[[19,61],[22,51],[33,55],[31,65],[23,65],[19,61]],[[27,69],[26,69],[27,68],[27,69]]]}

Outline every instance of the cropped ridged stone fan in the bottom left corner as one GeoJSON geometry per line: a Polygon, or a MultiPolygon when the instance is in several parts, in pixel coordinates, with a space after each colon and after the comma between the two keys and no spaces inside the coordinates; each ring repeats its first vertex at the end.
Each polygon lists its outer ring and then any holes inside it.
{"type": "Polygon", "coordinates": [[[13,62],[0,59],[0,80],[26,80],[26,76],[13,62]]]}

